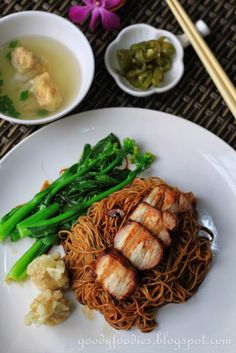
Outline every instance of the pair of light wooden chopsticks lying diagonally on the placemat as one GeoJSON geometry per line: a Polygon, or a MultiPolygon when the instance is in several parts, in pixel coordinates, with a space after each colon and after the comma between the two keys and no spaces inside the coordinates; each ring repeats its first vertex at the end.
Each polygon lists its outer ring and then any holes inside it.
{"type": "Polygon", "coordinates": [[[216,57],[207,46],[204,39],[196,30],[191,19],[180,5],[178,0],[166,0],[167,5],[182,27],[183,31],[187,34],[190,43],[198,54],[201,62],[205,66],[212,81],[215,83],[221,96],[228,105],[233,116],[236,118],[236,90],[225,71],[217,61],[216,57]]]}

